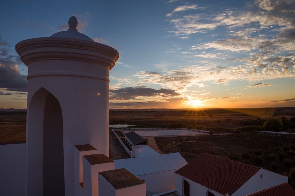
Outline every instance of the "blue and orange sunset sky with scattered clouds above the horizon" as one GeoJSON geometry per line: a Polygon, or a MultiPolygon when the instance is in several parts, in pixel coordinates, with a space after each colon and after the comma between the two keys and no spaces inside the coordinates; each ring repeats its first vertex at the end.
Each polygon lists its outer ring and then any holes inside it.
{"type": "MultiPolygon", "coordinates": [[[[27,107],[19,41],[78,31],[119,51],[110,108],[295,106],[295,0],[1,1],[0,108],[27,107]]],[[[87,88],[87,87],[85,87],[87,88]]]]}

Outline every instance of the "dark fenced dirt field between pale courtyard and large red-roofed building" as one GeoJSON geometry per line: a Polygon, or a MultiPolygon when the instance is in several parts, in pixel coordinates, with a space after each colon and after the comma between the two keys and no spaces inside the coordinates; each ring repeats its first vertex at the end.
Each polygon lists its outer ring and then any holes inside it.
{"type": "MultiPolygon", "coordinates": [[[[271,151],[281,148],[283,144],[295,143],[295,135],[278,135],[261,132],[239,132],[228,135],[204,135],[187,137],[157,137],[155,138],[158,148],[165,153],[180,152],[186,161],[191,161],[199,154],[183,152],[186,149],[195,151],[213,152],[244,152],[261,149],[271,151]],[[174,150],[177,147],[181,150],[174,150]]],[[[221,155],[227,158],[228,155],[221,155]]]]}

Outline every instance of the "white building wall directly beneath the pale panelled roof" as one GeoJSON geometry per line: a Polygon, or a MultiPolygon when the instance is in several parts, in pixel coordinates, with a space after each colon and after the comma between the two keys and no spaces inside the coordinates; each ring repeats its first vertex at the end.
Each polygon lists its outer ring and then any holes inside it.
{"type": "Polygon", "coordinates": [[[140,180],[145,180],[147,191],[161,193],[175,189],[175,171],[176,170],[157,172],[152,174],[138,175],[137,177],[140,180]]]}

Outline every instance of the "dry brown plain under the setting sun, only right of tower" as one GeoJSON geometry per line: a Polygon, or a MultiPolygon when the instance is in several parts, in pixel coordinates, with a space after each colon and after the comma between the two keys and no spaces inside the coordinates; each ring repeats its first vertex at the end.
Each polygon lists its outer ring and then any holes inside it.
{"type": "Polygon", "coordinates": [[[230,108],[230,109],[146,109],[110,110],[110,124],[131,124],[137,127],[169,127],[171,123],[240,127],[241,120],[257,118],[290,118],[295,108],[230,108]],[[137,116],[137,117],[134,117],[137,116]],[[226,119],[231,119],[226,121],[226,119]],[[220,123],[218,122],[220,120],[220,123]]]}

